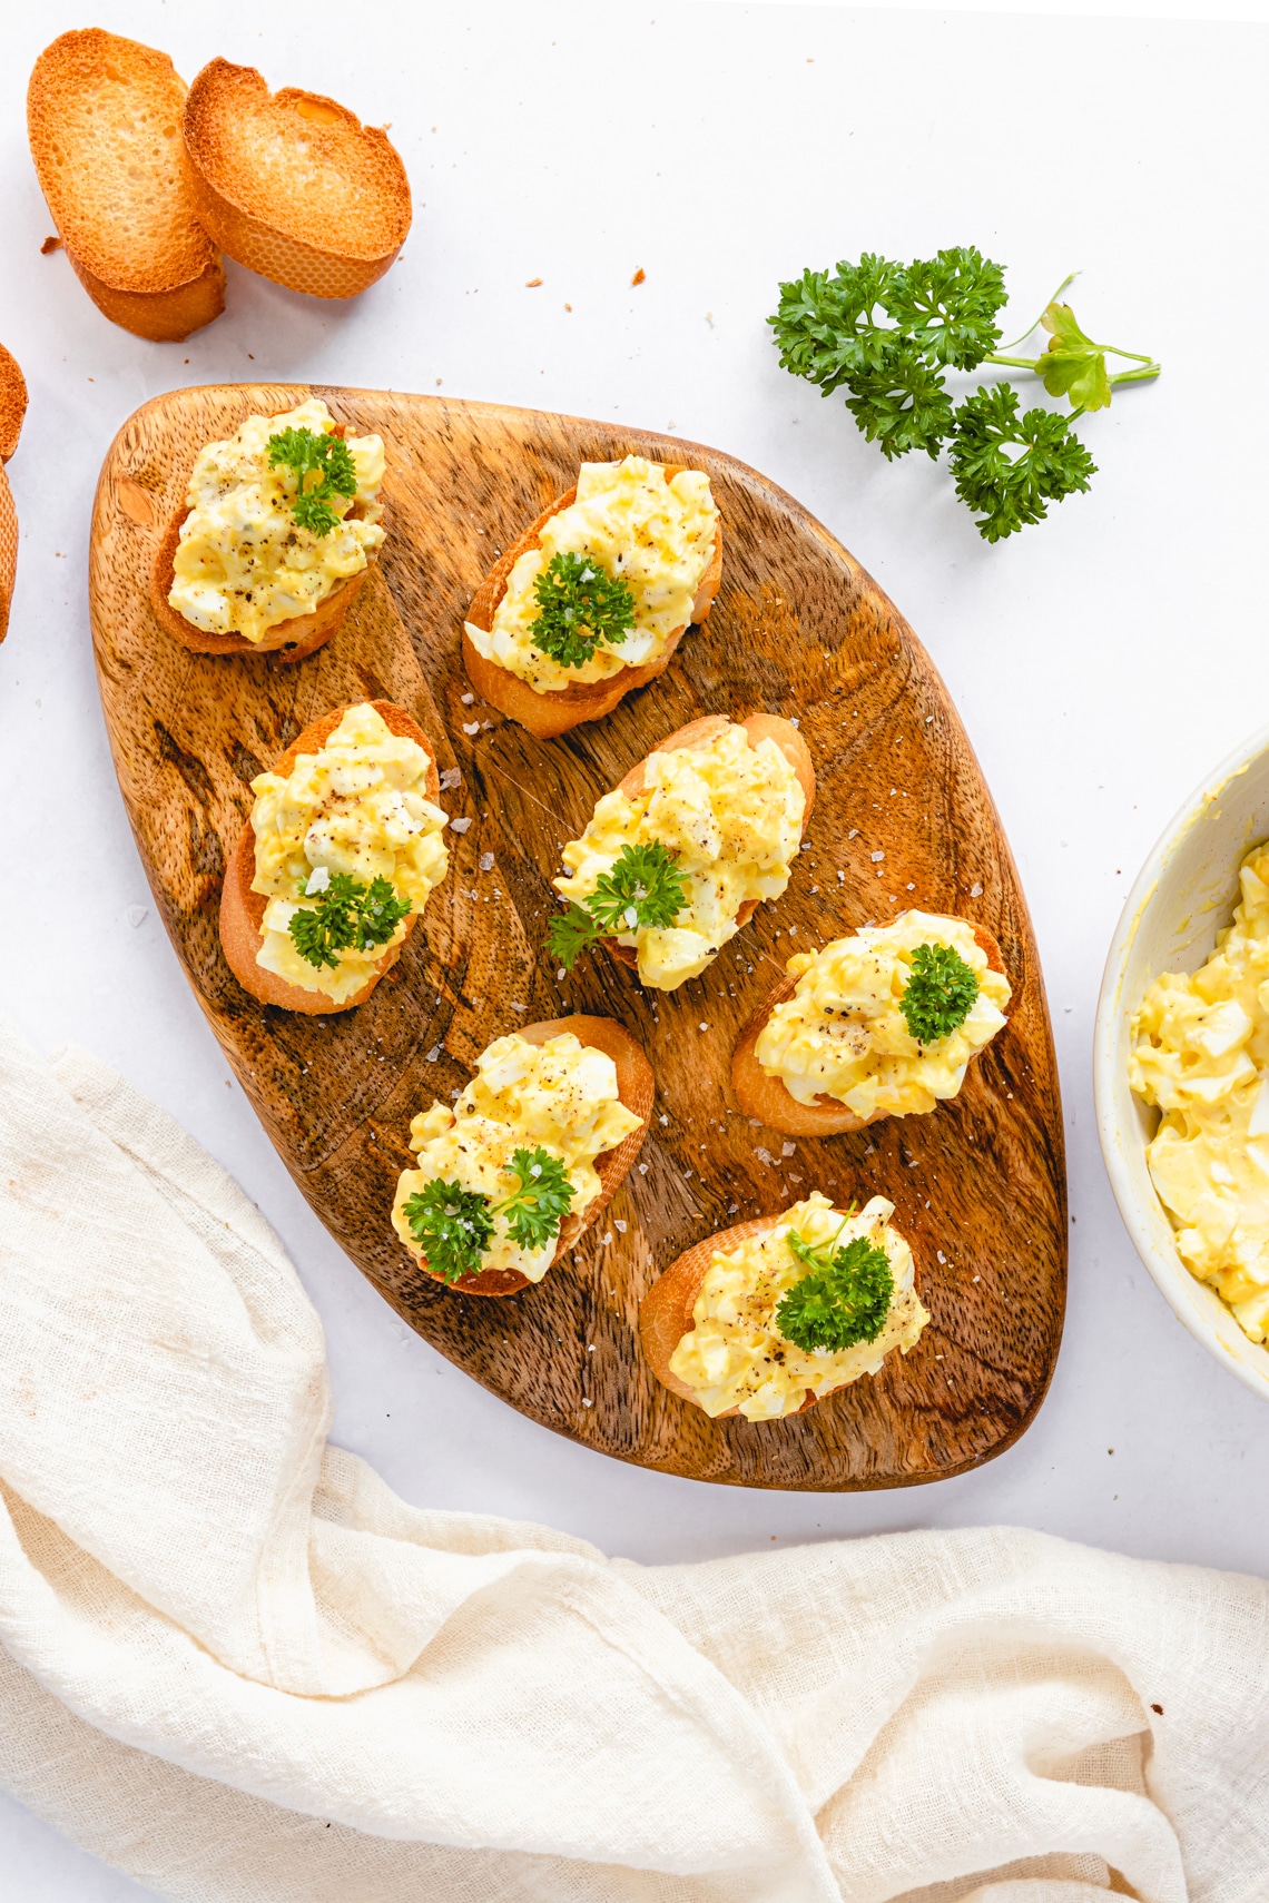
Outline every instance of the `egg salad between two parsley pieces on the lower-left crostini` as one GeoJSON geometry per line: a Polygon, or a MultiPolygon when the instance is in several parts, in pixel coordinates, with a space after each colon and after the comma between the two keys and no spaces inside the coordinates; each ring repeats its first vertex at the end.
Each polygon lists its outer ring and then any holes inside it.
{"type": "Polygon", "coordinates": [[[510,1233],[502,1205],[517,1182],[516,1151],[533,1146],[538,1168],[556,1159],[573,1191],[569,1216],[580,1216],[599,1195],[594,1159],[616,1149],[641,1123],[616,1094],[613,1058],[582,1045],[573,1031],[548,1037],[544,1045],[531,1045],[517,1033],[498,1037],[478,1058],[476,1075],[453,1109],[438,1102],[413,1119],[409,1148],[419,1163],[401,1174],[392,1227],[411,1256],[426,1260],[407,1205],[428,1186],[457,1184],[459,1191],[487,1199],[493,1233],[476,1265],[481,1271],[519,1269],[540,1283],[556,1254],[559,1224],[538,1246],[525,1246],[510,1233]]]}

